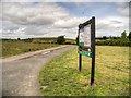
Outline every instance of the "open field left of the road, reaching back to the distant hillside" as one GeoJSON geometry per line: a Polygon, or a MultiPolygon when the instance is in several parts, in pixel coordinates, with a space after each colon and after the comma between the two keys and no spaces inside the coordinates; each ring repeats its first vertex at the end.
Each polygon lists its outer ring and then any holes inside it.
{"type": "MultiPolygon", "coordinates": [[[[60,46],[57,44],[57,37],[41,37],[41,38],[28,38],[28,39],[0,39],[2,44],[2,51],[0,57],[9,57],[20,54],[23,52],[47,49],[51,47],[60,46]]],[[[66,38],[66,44],[75,44],[74,39],[66,38]]]]}

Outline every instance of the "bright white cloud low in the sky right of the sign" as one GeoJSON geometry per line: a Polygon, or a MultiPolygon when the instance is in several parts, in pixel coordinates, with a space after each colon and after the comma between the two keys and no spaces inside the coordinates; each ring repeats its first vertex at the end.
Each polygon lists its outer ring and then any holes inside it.
{"type": "Polygon", "coordinates": [[[120,36],[123,30],[129,33],[129,17],[108,16],[96,20],[97,36],[120,36]]]}

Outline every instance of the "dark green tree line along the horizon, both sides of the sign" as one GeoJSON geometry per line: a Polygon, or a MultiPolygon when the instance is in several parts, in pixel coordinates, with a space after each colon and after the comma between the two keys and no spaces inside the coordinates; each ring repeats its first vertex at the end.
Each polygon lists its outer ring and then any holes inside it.
{"type": "MultiPolygon", "coordinates": [[[[47,38],[48,39],[48,38],[47,38]]],[[[3,40],[10,40],[10,39],[3,39],[3,40]]],[[[12,41],[16,41],[16,39],[11,39],[12,41]]],[[[53,40],[50,39],[44,41],[45,39],[38,39],[34,40],[34,38],[28,38],[28,39],[20,39],[17,40],[25,41],[25,42],[40,42],[40,44],[59,44],[59,45],[79,45],[79,36],[76,36],[75,40],[71,39],[67,41],[68,39],[64,38],[64,36],[58,36],[57,38],[53,38],[53,40]]],[[[103,36],[100,38],[96,38],[95,44],[100,45],[100,46],[131,46],[131,32],[129,35],[127,35],[126,30],[121,33],[120,37],[115,37],[115,36],[103,36]]]]}

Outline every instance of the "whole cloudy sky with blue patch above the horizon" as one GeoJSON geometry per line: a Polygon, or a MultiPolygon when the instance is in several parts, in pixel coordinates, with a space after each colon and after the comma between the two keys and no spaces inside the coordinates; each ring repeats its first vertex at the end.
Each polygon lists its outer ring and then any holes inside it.
{"type": "Polygon", "coordinates": [[[1,2],[2,38],[75,38],[78,25],[96,17],[96,36],[129,32],[128,2],[1,2]]]}

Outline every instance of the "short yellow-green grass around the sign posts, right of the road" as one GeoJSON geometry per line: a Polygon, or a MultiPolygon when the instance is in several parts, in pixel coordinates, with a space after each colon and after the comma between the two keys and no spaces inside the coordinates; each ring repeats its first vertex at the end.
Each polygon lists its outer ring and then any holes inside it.
{"type": "Polygon", "coordinates": [[[45,96],[129,96],[129,48],[96,47],[95,85],[90,86],[91,58],[78,70],[78,48],[48,62],[39,73],[45,96]]]}

